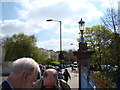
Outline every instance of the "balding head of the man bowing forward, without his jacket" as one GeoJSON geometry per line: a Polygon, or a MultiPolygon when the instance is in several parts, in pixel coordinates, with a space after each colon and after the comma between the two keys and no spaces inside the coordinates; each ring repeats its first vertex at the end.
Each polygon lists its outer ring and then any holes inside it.
{"type": "Polygon", "coordinates": [[[55,69],[47,69],[43,75],[43,83],[45,88],[53,88],[57,83],[57,71],[55,69]]]}

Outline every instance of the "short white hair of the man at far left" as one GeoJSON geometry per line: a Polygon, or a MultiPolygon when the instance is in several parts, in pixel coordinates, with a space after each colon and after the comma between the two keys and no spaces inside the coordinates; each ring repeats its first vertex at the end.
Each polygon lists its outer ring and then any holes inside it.
{"type": "Polygon", "coordinates": [[[20,58],[13,62],[12,73],[40,71],[38,63],[32,58],[20,58]]]}

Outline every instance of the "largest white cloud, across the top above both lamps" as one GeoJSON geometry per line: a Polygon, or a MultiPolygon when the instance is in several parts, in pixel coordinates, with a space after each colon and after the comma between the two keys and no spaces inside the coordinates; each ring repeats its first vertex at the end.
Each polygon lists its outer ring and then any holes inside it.
{"type": "Polygon", "coordinates": [[[73,19],[84,17],[91,21],[94,17],[99,18],[102,13],[92,3],[82,2],[81,0],[34,0],[32,2],[25,2],[24,10],[20,10],[20,18],[27,20],[39,21],[41,19],[73,19]],[[94,14],[96,13],[96,14],[94,14]]]}

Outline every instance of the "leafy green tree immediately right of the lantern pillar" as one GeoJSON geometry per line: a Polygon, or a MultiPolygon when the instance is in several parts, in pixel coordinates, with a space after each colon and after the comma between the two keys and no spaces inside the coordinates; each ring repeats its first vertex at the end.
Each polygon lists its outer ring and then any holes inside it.
{"type": "Polygon", "coordinates": [[[92,63],[97,64],[99,66],[99,70],[101,70],[101,64],[109,62],[105,56],[106,53],[110,53],[107,50],[110,40],[111,32],[104,26],[96,25],[86,27],[85,29],[85,41],[88,43],[88,49],[96,51],[92,57],[92,63]]]}

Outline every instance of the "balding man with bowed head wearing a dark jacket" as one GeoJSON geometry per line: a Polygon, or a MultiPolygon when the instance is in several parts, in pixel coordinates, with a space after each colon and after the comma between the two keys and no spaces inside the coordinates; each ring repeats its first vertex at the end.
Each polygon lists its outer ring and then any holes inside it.
{"type": "Polygon", "coordinates": [[[43,77],[35,82],[34,87],[39,90],[71,90],[64,80],[58,80],[55,69],[46,69],[43,77]]]}

